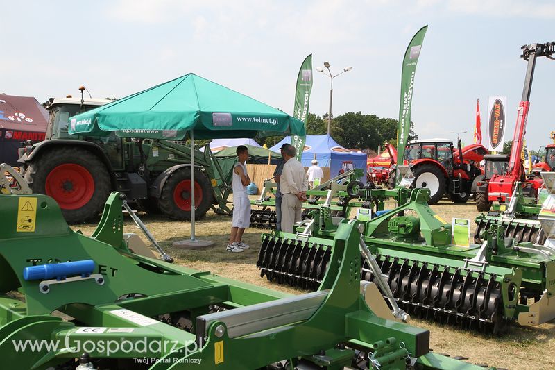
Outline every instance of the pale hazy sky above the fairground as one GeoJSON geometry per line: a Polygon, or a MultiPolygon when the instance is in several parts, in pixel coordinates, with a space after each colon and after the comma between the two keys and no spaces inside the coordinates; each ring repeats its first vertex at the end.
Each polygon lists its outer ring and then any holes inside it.
{"type": "MultiPolygon", "coordinates": [[[[411,120],[420,138],[470,144],[477,99],[507,96],[512,140],[526,62],[523,44],[555,41],[555,3],[543,0],[4,1],[0,93],[122,98],[189,72],[293,111],[298,69],[313,54],[309,111],[398,119],[404,51],[428,31],[416,69],[411,120]]],[[[555,60],[539,58],[526,140],[549,144],[555,60]]]]}

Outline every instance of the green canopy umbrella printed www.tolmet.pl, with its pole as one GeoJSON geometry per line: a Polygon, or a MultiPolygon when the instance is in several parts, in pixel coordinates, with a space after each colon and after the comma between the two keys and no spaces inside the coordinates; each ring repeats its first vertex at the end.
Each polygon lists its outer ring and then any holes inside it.
{"type": "MultiPolygon", "coordinates": [[[[287,113],[249,96],[186,74],[142,92],[71,117],[70,134],[115,131],[119,137],[182,140],[305,135],[305,125],[287,113]]],[[[194,183],[194,171],[191,171],[194,183]]],[[[191,187],[191,199],[194,186],[191,187]]],[[[191,241],[195,241],[195,207],[191,208],[191,241]]]]}

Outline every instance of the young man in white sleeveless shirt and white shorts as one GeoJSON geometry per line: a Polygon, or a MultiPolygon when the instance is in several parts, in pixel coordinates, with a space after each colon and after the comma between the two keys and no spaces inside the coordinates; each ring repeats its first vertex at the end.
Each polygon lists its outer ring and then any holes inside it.
{"type": "Polygon", "coordinates": [[[245,229],[250,226],[250,200],[248,199],[247,186],[250,178],[247,174],[245,162],[248,159],[248,148],[243,145],[237,146],[237,158],[239,159],[233,167],[233,218],[231,222],[231,235],[228,252],[242,252],[248,248],[248,244],[242,242],[245,229]]]}

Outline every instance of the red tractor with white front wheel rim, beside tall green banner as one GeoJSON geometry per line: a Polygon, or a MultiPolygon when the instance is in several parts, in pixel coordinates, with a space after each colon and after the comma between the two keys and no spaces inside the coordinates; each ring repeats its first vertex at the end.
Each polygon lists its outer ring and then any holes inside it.
{"type": "Polygon", "coordinates": [[[487,153],[480,144],[461,149],[460,140],[458,151],[451,140],[415,140],[407,145],[404,162],[414,175],[413,187],[430,190],[429,204],[438,203],[444,194],[455,203],[466,203],[474,179],[481,175],[477,164],[487,153]]]}

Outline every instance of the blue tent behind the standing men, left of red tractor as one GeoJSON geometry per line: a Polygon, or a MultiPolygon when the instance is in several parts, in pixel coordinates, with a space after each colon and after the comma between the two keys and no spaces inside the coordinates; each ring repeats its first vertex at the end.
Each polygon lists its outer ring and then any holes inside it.
{"type": "MultiPolygon", "coordinates": [[[[291,137],[285,137],[270,150],[280,151],[283,144],[291,144],[291,137]]],[[[309,167],[314,155],[316,155],[320,167],[330,167],[330,176],[332,177],[337,176],[342,170],[346,171],[353,167],[362,169],[366,174],[367,155],[343,148],[330,135],[307,135],[305,149],[302,151],[302,165],[309,167]]],[[[361,180],[366,182],[366,176],[363,176],[361,180]]]]}

